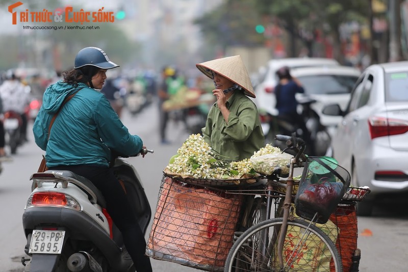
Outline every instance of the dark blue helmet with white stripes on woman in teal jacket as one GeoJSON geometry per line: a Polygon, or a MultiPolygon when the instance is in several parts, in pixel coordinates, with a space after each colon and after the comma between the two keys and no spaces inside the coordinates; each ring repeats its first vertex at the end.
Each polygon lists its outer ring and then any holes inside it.
{"type": "Polygon", "coordinates": [[[112,69],[119,67],[116,63],[109,60],[105,51],[98,47],[85,47],[81,49],[75,57],[74,69],[84,66],[95,66],[100,69],[112,69]]]}

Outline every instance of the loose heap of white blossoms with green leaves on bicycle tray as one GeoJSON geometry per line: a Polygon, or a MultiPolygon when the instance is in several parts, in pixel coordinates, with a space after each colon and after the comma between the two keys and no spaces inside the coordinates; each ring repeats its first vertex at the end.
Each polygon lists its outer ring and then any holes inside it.
{"type": "MultiPolygon", "coordinates": [[[[251,158],[281,150],[267,144],[251,158]]],[[[254,171],[251,159],[226,162],[216,158],[212,148],[200,134],[191,134],[181,148],[177,150],[165,172],[199,179],[239,179],[243,175],[259,175],[254,171]]]]}

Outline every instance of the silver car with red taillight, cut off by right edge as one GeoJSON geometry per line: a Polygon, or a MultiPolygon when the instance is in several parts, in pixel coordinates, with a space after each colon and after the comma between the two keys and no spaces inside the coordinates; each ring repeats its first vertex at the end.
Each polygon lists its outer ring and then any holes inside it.
{"type": "Polygon", "coordinates": [[[381,195],[408,193],[408,62],[367,67],[346,110],[329,105],[323,114],[343,116],[327,155],[350,171],[352,185],[371,189],[359,215],[370,215],[381,195]]]}

